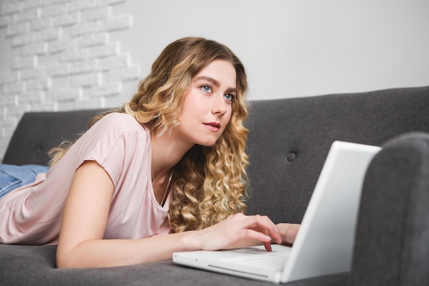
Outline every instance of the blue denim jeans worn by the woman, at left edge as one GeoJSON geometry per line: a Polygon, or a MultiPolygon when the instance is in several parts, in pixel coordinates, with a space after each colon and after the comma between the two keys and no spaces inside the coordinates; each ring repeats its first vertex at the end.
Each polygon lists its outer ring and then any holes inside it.
{"type": "Polygon", "coordinates": [[[0,164],[0,198],[25,184],[34,182],[40,173],[46,173],[49,167],[40,165],[0,164]]]}

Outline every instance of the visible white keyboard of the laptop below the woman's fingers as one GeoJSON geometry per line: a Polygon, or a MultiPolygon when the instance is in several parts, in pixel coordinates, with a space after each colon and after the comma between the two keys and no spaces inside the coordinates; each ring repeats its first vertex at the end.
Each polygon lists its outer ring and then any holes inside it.
{"type": "Polygon", "coordinates": [[[282,270],[289,257],[289,253],[271,252],[267,254],[246,255],[243,257],[231,257],[222,261],[249,265],[268,270],[282,270]]]}

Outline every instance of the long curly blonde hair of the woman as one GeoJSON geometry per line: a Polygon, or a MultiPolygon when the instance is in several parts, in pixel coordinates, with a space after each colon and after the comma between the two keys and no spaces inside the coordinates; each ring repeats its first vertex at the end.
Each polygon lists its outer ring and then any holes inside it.
{"type": "MultiPolygon", "coordinates": [[[[110,112],[126,112],[156,134],[167,132],[180,124],[182,103],[195,75],[219,59],[230,62],[236,71],[237,93],[232,99],[232,116],[215,145],[194,145],[175,166],[168,218],[176,233],[206,228],[245,211],[248,130],[243,120],[247,117],[248,103],[247,76],[240,60],[228,47],[213,40],[176,40],[160,53],[130,102],[121,109],[97,115],[90,122],[92,126],[110,112]]],[[[53,150],[52,163],[65,151],[53,150]]]]}

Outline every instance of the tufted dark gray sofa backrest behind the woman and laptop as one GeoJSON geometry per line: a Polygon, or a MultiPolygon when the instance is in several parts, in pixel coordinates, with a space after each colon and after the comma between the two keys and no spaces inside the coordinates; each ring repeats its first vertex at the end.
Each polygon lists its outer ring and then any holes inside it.
{"type": "MultiPolygon", "coordinates": [[[[25,113],[3,163],[46,164],[46,152],[84,132],[101,110],[25,113]]],[[[301,222],[330,145],[382,145],[394,136],[429,132],[429,86],[369,93],[252,102],[247,213],[301,222]]]]}

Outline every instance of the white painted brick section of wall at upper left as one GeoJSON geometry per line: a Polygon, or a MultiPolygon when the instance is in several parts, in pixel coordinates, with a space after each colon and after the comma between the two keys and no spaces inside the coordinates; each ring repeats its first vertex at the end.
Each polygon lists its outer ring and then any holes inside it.
{"type": "MultiPolygon", "coordinates": [[[[0,160],[25,111],[107,108],[140,67],[109,33],[132,26],[125,0],[1,0],[0,29],[19,56],[0,74],[0,160]]],[[[130,95],[127,95],[130,96],[130,95]]]]}

